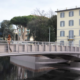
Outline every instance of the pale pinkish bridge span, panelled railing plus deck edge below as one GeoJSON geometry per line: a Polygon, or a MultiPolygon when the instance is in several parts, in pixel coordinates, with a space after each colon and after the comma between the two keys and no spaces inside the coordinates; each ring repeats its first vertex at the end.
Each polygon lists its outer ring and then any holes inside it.
{"type": "Polygon", "coordinates": [[[79,46],[59,45],[50,42],[27,42],[24,44],[0,43],[0,56],[38,54],[80,54],[79,46]],[[10,49],[12,52],[10,52],[10,49]]]}

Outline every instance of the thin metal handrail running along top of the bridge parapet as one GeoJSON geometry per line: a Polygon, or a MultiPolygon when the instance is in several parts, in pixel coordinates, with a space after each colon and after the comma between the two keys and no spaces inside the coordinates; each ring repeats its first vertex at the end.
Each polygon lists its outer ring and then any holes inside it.
{"type": "MultiPolygon", "coordinates": [[[[7,44],[7,41],[0,40],[0,44],[7,44]]],[[[47,42],[47,41],[11,41],[11,44],[51,44],[51,45],[60,45],[60,46],[74,46],[80,47],[79,44],[72,44],[72,43],[60,43],[60,42],[47,42]]]]}

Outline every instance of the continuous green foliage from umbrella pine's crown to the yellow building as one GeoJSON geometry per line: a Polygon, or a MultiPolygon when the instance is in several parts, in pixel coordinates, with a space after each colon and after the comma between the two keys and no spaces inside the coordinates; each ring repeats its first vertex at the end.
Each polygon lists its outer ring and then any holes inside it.
{"type": "Polygon", "coordinates": [[[22,25],[30,29],[30,35],[36,41],[49,41],[49,27],[50,27],[50,40],[56,41],[57,34],[57,16],[51,18],[45,16],[29,15],[18,16],[10,20],[10,23],[15,25],[22,25]]]}

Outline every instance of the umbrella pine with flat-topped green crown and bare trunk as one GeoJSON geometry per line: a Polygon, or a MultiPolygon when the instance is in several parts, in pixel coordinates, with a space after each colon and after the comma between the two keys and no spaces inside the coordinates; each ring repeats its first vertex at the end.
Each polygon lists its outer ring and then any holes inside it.
{"type": "Polygon", "coordinates": [[[27,27],[27,24],[29,21],[34,20],[36,17],[33,15],[29,15],[29,16],[18,16],[18,17],[13,17],[10,20],[11,24],[15,24],[19,27],[19,29],[21,29],[21,37],[23,36],[23,29],[24,27],[27,27]]]}

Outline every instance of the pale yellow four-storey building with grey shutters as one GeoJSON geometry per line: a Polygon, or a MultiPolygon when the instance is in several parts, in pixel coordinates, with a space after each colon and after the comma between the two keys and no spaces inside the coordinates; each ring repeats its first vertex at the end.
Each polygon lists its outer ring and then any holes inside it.
{"type": "Polygon", "coordinates": [[[57,42],[80,45],[80,8],[57,10],[57,42]]]}

